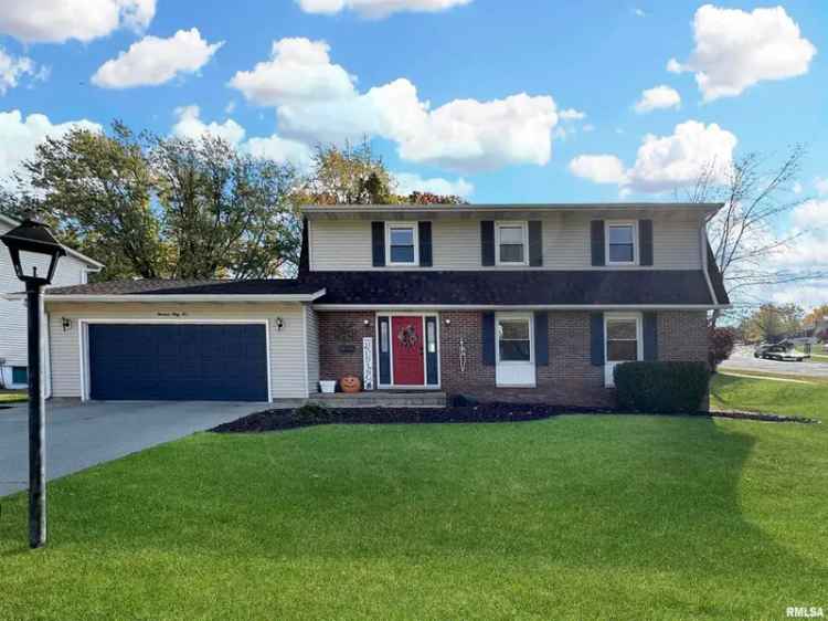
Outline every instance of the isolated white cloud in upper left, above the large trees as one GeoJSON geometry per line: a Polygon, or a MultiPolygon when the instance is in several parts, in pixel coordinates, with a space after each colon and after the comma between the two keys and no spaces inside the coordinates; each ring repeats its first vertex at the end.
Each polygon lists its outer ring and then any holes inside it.
{"type": "Polygon", "coordinates": [[[197,28],[179,30],[169,39],[148,35],[100,65],[92,82],[104,88],[157,86],[176,75],[195,73],[223,44],[208,43],[197,28]]]}

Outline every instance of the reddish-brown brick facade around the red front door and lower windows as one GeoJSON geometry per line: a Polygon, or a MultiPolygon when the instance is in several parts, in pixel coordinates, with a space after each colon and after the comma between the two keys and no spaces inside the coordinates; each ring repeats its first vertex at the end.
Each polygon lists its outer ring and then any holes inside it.
{"type": "MultiPolygon", "coordinates": [[[[495,367],[482,361],[482,313],[452,310],[438,317],[440,389],[447,394],[481,401],[614,404],[614,391],[604,388],[604,367],[591,362],[587,312],[549,313],[549,365],[537,367],[535,388],[496,387],[495,367]],[[460,364],[464,348],[465,366],[460,364]]],[[[362,337],[375,338],[375,320],[371,312],[319,313],[320,379],[362,377],[362,337]]],[[[705,313],[658,313],[658,357],[707,360],[705,313]]]]}

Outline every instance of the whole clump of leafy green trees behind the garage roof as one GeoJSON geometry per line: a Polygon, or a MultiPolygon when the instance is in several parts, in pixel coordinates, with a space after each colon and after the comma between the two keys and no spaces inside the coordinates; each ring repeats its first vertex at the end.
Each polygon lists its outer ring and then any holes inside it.
{"type": "Polygon", "coordinates": [[[41,144],[0,209],[36,210],[97,277],[268,277],[298,263],[293,167],[220,138],[75,129],[41,144]],[[24,191],[23,191],[24,190],[24,191]]]}

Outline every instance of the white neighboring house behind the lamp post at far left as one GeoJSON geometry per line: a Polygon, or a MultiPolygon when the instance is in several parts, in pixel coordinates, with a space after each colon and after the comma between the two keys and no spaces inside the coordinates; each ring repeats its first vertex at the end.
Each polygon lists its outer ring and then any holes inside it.
{"type": "MultiPolygon", "coordinates": [[[[0,235],[20,224],[0,213],[0,235]]],[[[89,273],[99,272],[103,264],[66,249],[66,256],[57,262],[52,280],[53,286],[86,284],[89,273]]],[[[23,291],[14,274],[8,249],[0,244],[0,294],[23,291]]],[[[28,386],[25,302],[0,297],[0,387],[25,388],[28,386]]]]}

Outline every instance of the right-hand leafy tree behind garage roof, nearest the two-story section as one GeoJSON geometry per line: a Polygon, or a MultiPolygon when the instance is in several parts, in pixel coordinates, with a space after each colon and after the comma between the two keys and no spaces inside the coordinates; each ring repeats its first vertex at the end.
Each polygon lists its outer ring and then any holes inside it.
{"type": "Polygon", "coordinates": [[[158,139],[151,151],[171,276],[267,277],[298,263],[301,231],[290,166],[226,141],[158,139]]]}

